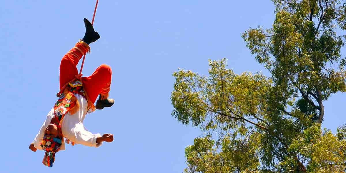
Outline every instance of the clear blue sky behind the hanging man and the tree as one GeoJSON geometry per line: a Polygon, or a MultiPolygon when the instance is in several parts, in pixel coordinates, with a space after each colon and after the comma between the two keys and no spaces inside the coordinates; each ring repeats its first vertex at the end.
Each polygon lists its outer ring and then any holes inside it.
{"type": "MultiPolygon", "coordinates": [[[[100,64],[112,67],[112,108],[87,115],[93,133],[113,133],[100,148],[67,145],[52,169],[32,142],[56,101],[62,56],[84,35],[95,1],[0,2],[0,104],[3,172],[182,172],[184,148],[201,134],[172,116],[172,73],[177,68],[207,74],[208,59],[228,58],[236,73],[263,71],[240,34],[271,27],[274,6],[261,1],[100,0],[84,76],[100,64]]],[[[79,67],[78,67],[79,69],[79,67]]],[[[344,124],[344,93],[325,102],[323,127],[344,124]]]]}

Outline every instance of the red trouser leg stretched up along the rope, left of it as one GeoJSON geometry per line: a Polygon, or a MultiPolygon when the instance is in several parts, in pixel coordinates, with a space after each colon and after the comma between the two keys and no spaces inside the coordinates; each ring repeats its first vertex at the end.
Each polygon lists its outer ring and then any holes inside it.
{"type": "Polygon", "coordinates": [[[80,41],[62,58],[60,63],[60,89],[78,74],[76,66],[82,56],[88,51],[88,44],[80,41]]]}

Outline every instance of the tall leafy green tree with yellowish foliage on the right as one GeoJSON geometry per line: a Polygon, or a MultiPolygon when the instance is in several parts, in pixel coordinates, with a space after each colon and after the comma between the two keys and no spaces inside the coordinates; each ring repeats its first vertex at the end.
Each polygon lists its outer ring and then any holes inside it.
{"type": "Polygon", "coordinates": [[[323,102],[346,91],[346,3],[273,3],[273,27],[242,34],[270,78],[235,74],[226,59],[209,60],[209,76],[173,73],[172,116],[204,134],[185,148],[185,172],[346,171],[346,127],[321,129],[323,102]]]}

